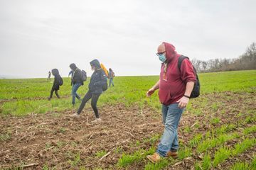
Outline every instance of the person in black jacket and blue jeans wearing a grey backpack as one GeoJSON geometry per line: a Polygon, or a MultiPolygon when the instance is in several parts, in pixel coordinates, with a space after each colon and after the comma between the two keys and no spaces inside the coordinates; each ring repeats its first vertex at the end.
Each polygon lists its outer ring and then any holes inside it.
{"type": "Polygon", "coordinates": [[[73,70],[73,77],[71,78],[72,86],[72,104],[75,105],[75,98],[81,100],[80,96],[77,94],[78,88],[83,85],[82,72],[74,63],[70,64],[70,69],[73,70]]]}

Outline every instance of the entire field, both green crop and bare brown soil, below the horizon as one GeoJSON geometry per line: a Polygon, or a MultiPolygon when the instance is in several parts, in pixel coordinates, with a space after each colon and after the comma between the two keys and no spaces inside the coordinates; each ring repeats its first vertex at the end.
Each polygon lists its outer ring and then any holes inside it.
{"type": "Polygon", "coordinates": [[[0,169],[256,169],[256,70],[198,76],[201,96],[181,119],[178,159],[159,164],[146,154],[163,132],[161,104],[157,92],[145,96],[159,77],[115,77],[100,96],[101,125],[90,123],[90,103],[79,120],[67,116],[80,104],[71,105],[68,78],[52,101],[46,79],[1,79],[0,169]]]}

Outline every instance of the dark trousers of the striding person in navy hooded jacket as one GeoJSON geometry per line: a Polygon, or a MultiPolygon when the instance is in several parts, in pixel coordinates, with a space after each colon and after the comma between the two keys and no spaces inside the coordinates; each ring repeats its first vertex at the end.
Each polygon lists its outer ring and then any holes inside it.
{"type": "Polygon", "coordinates": [[[100,97],[100,94],[92,94],[91,91],[87,91],[87,94],[85,94],[85,97],[82,98],[82,103],[81,103],[80,107],[78,108],[78,114],[80,114],[82,112],[82,109],[85,107],[85,104],[87,103],[87,101],[89,101],[90,98],[92,98],[91,106],[95,113],[95,117],[100,118],[99,112],[97,110],[97,101],[98,101],[99,97],[100,97]]]}

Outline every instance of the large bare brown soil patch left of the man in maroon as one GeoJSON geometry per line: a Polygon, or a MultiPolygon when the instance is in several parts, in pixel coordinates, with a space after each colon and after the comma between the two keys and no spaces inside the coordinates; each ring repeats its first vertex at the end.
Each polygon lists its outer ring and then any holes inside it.
{"type": "Polygon", "coordinates": [[[38,164],[31,169],[41,169],[45,164],[56,169],[75,169],[72,161],[78,153],[80,164],[86,168],[111,167],[117,163],[119,148],[129,152],[129,145],[161,131],[159,118],[151,109],[108,106],[100,108],[102,123],[92,124],[92,109],[86,108],[80,118],[65,113],[31,114],[22,118],[1,118],[1,134],[9,133],[1,141],[1,168],[38,164]],[[110,152],[108,157],[96,157],[97,152],[110,152]]]}

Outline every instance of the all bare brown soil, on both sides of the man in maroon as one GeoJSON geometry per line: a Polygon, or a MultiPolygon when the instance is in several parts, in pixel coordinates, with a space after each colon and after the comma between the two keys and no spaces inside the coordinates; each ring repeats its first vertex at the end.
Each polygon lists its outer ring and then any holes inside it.
{"type": "MultiPolygon", "coordinates": [[[[218,128],[224,123],[236,123],[238,121],[236,115],[245,108],[256,109],[253,102],[255,93],[246,96],[232,93],[209,94],[202,98],[208,98],[208,103],[213,103],[217,99],[223,105],[214,114],[207,107],[202,108],[201,115],[191,115],[189,111],[184,113],[179,126],[179,138],[185,145],[193,135],[218,128]],[[232,95],[232,98],[226,100],[227,95],[232,95]],[[247,100],[248,98],[250,100],[247,100]],[[225,108],[226,113],[220,113],[221,108],[225,108]],[[210,118],[215,116],[220,118],[220,123],[211,125],[210,118]],[[200,124],[199,128],[195,128],[196,122],[200,124]],[[192,132],[184,131],[185,127],[190,127],[192,132]]],[[[139,146],[134,144],[156,134],[161,135],[164,129],[161,125],[161,113],[148,107],[125,108],[121,104],[105,106],[99,110],[102,123],[95,124],[91,123],[95,119],[91,108],[85,108],[80,118],[70,117],[75,110],[23,117],[2,117],[0,169],[14,169],[24,165],[31,165],[24,169],[42,169],[46,165],[55,169],[79,169],[81,166],[86,169],[96,167],[117,169],[117,161],[122,156],[122,152],[133,153],[137,149],[149,149],[150,143],[142,143],[139,146]],[[99,154],[102,151],[105,151],[106,157],[102,158],[104,154],[99,154]],[[79,157],[80,161],[76,162],[75,158],[79,157]]],[[[236,142],[238,141],[231,141],[230,145],[233,146],[236,142]]],[[[250,159],[255,153],[256,149],[253,147],[241,157],[228,160],[224,166],[230,166],[237,159],[250,159]]],[[[195,154],[183,159],[180,164],[166,169],[193,169],[196,160],[198,155],[195,154]]],[[[147,162],[143,160],[132,164],[128,169],[143,169],[147,162]]],[[[225,167],[220,166],[217,169],[225,169],[225,167]]]]}

